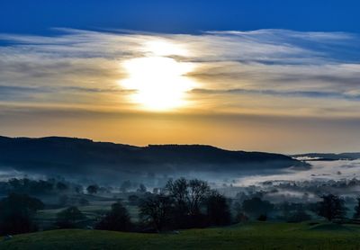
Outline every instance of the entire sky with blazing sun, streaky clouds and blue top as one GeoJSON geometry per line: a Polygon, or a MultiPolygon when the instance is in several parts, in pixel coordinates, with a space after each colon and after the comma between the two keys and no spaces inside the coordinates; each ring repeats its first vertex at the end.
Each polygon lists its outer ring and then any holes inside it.
{"type": "Polygon", "coordinates": [[[360,151],[358,1],[2,1],[0,134],[360,151]]]}

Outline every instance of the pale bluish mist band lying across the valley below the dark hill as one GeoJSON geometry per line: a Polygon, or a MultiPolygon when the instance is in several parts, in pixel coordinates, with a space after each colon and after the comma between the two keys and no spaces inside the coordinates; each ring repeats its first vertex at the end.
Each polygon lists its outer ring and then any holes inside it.
{"type": "MultiPolygon", "coordinates": [[[[118,172],[106,176],[89,172],[87,174],[40,174],[18,171],[11,167],[3,167],[0,181],[11,178],[30,178],[46,180],[49,178],[65,178],[78,184],[98,183],[119,190],[121,183],[130,181],[130,190],[136,190],[140,183],[147,186],[148,191],[162,188],[169,179],[185,177],[207,181],[213,188],[228,197],[241,195],[261,195],[269,201],[317,201],[321,194],[335,193],[354,199],[360,192],[360,159],[338,161],[308,161],[311,166],[284,169],[253,169],[221,171],[190,171],[189,168],[167,173],[153,172],[118,172]],[[112,178],[109,177],[112,175],[112,178]]],[[[99,171],[103,171],[100,170],[99,171]]]]}

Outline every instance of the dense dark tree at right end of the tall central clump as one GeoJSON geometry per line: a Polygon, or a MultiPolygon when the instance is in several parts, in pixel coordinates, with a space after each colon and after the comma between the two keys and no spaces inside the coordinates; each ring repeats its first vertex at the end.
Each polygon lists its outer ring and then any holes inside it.
{"type": "Polygon", "coordinates": [[[210,225],[222,226],[231,222],[228,201],[219,192],[211,192],[206,201],[206,208],[210,225]]]}

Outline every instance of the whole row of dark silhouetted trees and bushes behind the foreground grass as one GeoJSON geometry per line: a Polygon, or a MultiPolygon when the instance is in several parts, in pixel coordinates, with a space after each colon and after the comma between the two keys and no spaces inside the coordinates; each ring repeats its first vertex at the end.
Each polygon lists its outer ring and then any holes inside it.
{"type": "MultiPolygon", "coordinates": [[[[88,192],[97,187],[88,187],[88,192]]],[[[211,189],[202,180],[180,178],[169,180],[159,193],[144,192],[142,197],[130,195],[129,201],[139,207],[139,221],[133,222],[126,206],[121,201],[112,204],[111,210],[99,217],[95,229],[114,231],[161,232],[184,228],[205,228],[226,226],[247,219],[266,220],[275,204],[260,197],[251,197],[241,204],[211,189]]],[[[93,192],[94,193],[94,192],[93,192]]],[[[10,193],[0,201],[0,234],[19,234],[38,229],[35,214],[45,205],[28,194],[10,193]]],[[[302,204],[282,204],[284,214],[290,222],[311,219],[302,204]]],[[[334,194],[320,197],[311,204],[310,210],[316,215],[334,221],[347,217],[344,199],[334,194]]],[[[354,211],[354,219],[360,219],[360,197],[354,211]]],[[[82,228],[86,216],[76,206],[70,206],[57,214],[55,228],[82,228]]]]}

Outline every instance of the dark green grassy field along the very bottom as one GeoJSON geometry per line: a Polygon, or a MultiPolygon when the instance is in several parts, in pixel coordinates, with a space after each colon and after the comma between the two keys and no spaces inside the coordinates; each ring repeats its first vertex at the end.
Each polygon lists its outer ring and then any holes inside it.
{"type": "Polygon", "coordinates": [[[180,234],[54,230],[0,239],[0,249],[360,249],[360,227],[253,222],[180,234]]]}

